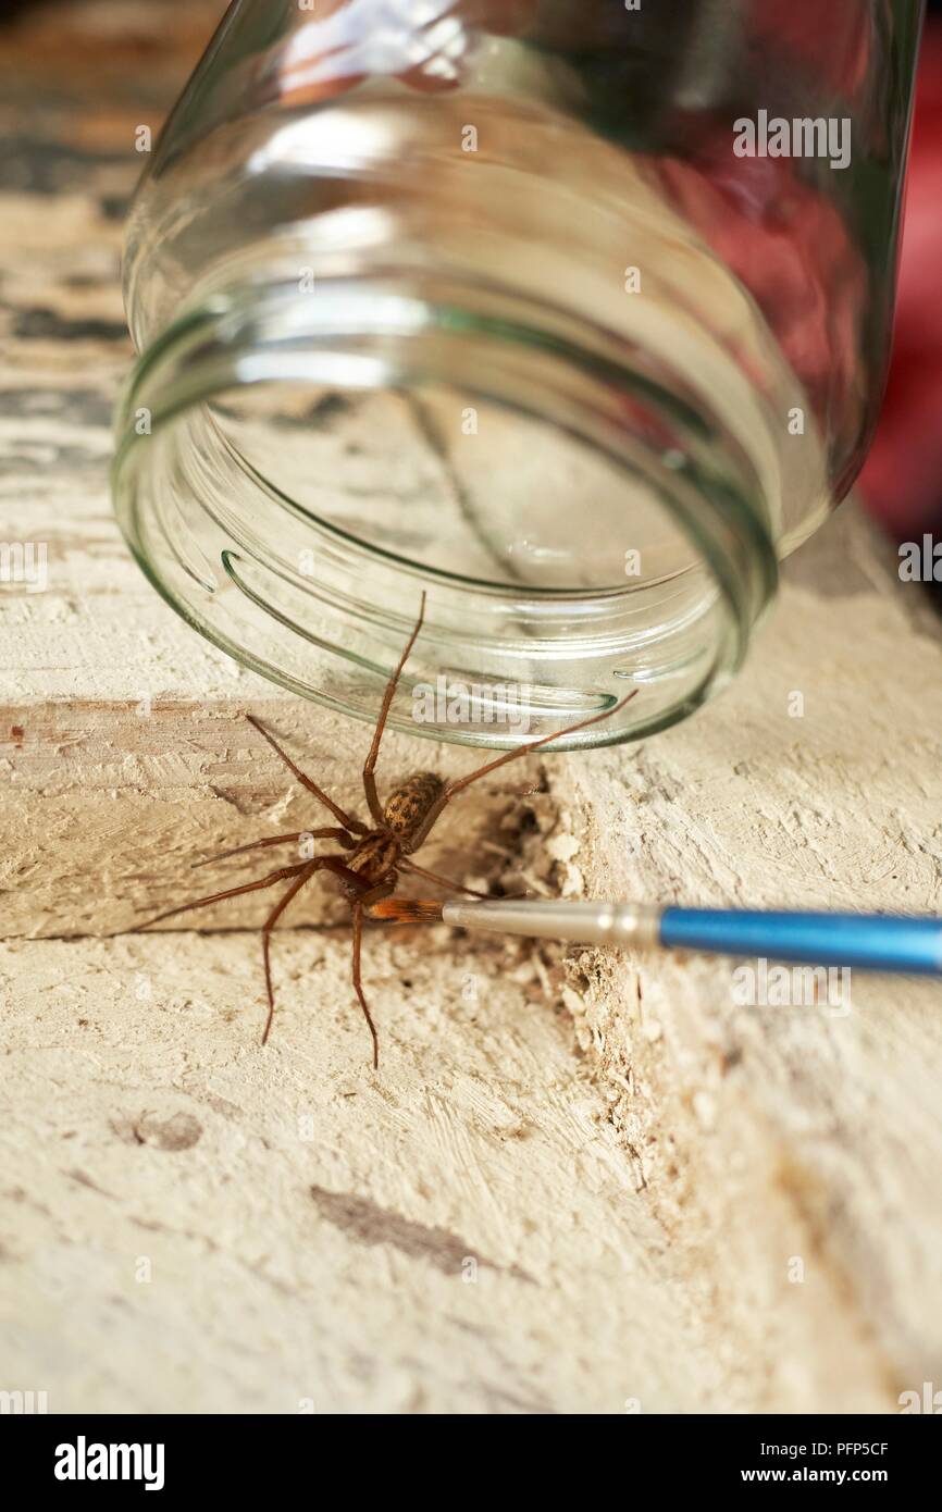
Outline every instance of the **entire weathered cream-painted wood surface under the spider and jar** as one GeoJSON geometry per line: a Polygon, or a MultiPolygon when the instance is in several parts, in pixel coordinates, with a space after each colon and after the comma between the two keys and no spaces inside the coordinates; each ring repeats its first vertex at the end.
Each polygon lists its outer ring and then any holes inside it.
{"type": "MultiPolygon", "coordinates": [[[[103,14],[0,32],[0,535],[45,541],[50,573],[0,591],[0,1388],[51,1411],[827,1412],[939,1387],[933,984],[748,1009],[729,962],[378,931],[375,1075],[339,928],[277,940],[266,1051],[256,934],[89,937],[169,903],[195,854],[310,823],[243,709],[343,801],[366,741],[203,646],[119,543],[119,201],[200,41],[174,51],[148,6],[150,41],[107,60],[103,14]]],[[[469,795],[442,865],[939,912],[939,621],[853,508],[788,576],[711,709],[532,758],[544,791],[469,795]]],[[[429,761],[473,756],[395,736],[384,770],[429,761]]]]}

